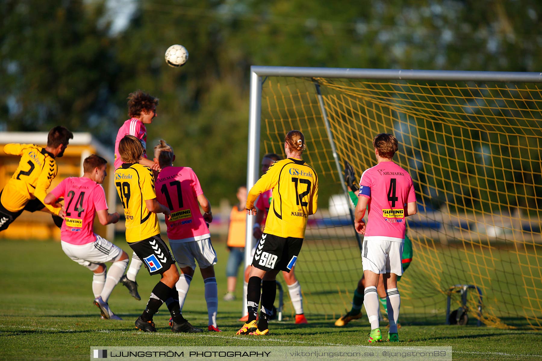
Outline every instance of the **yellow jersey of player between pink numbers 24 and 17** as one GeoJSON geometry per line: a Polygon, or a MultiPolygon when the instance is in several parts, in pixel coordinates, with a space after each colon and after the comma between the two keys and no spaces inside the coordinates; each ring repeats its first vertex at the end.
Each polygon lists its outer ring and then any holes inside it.
{"type": "Polygon", "coordinates": [[[115,187],[126,217],[126,242],[139,242],[160,234],[158,217],[147,209],[146,200],[156,198],[151,168],[123,163],[115,170],[115,187]]]}

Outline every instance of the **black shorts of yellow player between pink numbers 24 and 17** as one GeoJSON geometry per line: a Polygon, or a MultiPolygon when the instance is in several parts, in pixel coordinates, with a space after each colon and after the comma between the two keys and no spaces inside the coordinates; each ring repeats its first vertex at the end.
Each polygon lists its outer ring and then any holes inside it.
{"type": "Polygon", "coordinates": [[[159,234],[128,245],[143,261],[151,275],[162,274],[175,264],[173,255],[159,234]]]}

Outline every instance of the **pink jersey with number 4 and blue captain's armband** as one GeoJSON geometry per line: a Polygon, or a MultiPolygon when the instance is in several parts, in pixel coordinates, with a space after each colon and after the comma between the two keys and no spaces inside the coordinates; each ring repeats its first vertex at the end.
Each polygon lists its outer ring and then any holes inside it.
{"type": "Polygon", "coordinates": [[[363,172],[358,195],[370,199],[364,240],[404,242],[406,204],[416,201],[408,172],[392,161],[380,162],[363,172]]]}

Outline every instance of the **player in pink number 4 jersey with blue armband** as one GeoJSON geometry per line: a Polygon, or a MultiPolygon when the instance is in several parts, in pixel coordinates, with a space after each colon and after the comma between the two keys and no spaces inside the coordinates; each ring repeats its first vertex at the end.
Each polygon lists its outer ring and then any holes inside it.
{"type": "Polygon", "coordinates": [[[378,164],[366,169],[359,181],[358,204],[354,226],[364,235],[362,265],[365,277],[365,311],[371,323],[369,342],[382,340],[378,323],[377,284],[383,274],[390,330],[388,340],[398,342],[397,319],[401,298],[397,290],[397,276],[403,274],[402,254],[405,237],[405,218],[416,214],[416,194],[412,178],[392,161],[397,152],[395,136],[381,133],[373,139],[378,164]],[[367,225],[363,221],[369,206],[367,225]]]}

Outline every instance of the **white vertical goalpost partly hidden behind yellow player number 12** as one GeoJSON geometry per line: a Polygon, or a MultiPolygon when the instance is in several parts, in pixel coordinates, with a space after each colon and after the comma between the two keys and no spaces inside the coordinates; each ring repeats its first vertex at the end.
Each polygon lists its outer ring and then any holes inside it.
{"type": "MultiPolygon", "coordinates": [[[[260,156],[260,117],[262,99],[262,78],[254,71],[250,72],[250,109],[248,120],[248,159],[247,159],[247,189],[250,190],[258,177],[258,164],[260,156]]],[[[244,267],[247,268],[252,262],[250,251],[252,250],[252,231],[254,216],[247,215],[246,241],[244,245],[244,267]]],[[[244,279],[243,279],[244,281],[244,279]]],[[[247,295],[243,294],[242,313],[246,313],[247,295]]]]}

